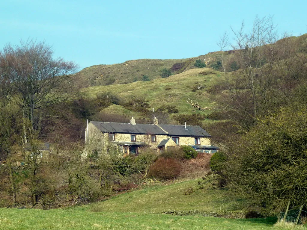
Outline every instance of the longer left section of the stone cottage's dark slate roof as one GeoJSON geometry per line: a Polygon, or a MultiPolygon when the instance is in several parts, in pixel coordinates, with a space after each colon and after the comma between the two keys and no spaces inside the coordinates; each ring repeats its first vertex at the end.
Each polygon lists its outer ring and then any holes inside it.
{"type": "Polygon", "coordinates": [[[136,124],[91,121],[101,132],[131,133],[131,134],[157,134],[166,135],[166,133],[153,124],[136,124]]]}

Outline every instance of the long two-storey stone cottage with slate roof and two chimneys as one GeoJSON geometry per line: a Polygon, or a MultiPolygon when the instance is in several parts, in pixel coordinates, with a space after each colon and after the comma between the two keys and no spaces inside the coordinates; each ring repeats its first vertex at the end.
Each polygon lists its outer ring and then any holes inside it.
{"type": "Polygon", "coordinates": [[[211,136],[200,126],[137,124],[132,116],[130,123],[90,121],[86,133],[88,152],[108,151],[109,143],[118,146],[124,155],[138,154],[140,148],[150,147],[157,152],[190,145],[200,152],[213,153],[211,136]]]}

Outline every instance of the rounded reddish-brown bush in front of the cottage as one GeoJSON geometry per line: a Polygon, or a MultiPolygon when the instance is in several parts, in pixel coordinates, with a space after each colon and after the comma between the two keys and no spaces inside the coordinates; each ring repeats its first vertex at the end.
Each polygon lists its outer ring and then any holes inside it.
{"type": "Polygon", "coordinates": [[[181,166],[176,159],[159,158],[149,170],[149,176],[162,179],[173,179],[179,176],[181,166]]]}

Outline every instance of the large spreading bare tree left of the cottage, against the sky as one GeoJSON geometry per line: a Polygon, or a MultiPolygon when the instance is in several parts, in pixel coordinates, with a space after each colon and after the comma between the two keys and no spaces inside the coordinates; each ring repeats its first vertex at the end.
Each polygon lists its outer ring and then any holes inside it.
{"type": "Polygon", "coordinates": [[[1,93],[16,96],[23,111],[24,143],[27,136],[41,130],[40,109],[71,96],[69,74],[76,64],[61,58],[54,59],[53,50],[44,42],[34,40],[20,45],[6,45],[0,56],[1,93]],[[5,90],[6,86],[9,91],[5,90]],[[36,114],[35,112],[38,113],[36,114]]]}

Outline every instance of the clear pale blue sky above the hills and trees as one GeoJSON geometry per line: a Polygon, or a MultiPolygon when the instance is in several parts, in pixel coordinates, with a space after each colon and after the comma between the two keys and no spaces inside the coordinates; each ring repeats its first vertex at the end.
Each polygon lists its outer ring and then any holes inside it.
{"type": "MultiPolygon", "coordinates": [[[[224,31],[273,15],[278,31],[307,33],[307,1],[1,1],[0,48],[34,38],[80,69],[217,51],[224,31]]],[[[233,36],[230,34],[230,38],[233,36]]]]}

